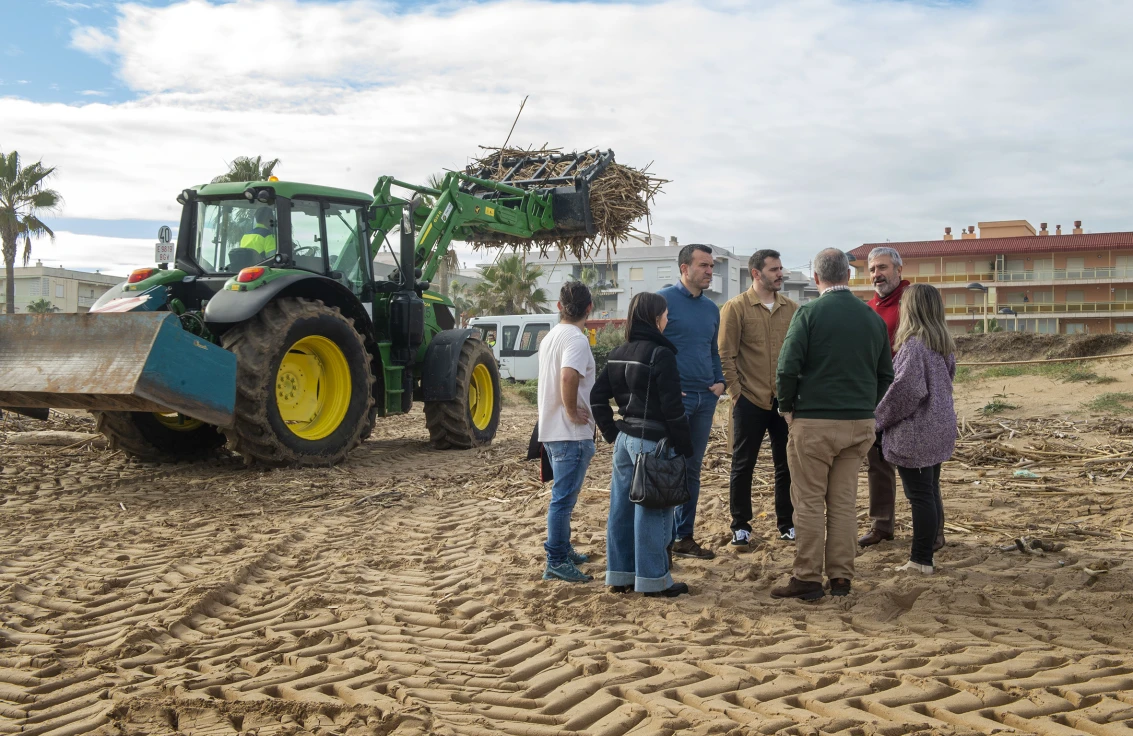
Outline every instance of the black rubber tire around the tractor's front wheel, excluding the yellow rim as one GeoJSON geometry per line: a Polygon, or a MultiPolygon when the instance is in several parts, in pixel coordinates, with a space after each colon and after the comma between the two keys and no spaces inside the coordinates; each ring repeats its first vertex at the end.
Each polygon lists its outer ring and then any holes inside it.
{"type": "Polygon", "coordinates": [[[488,445],[500,428],[500,406],[502,403],[500,366],[495,361],[495,356],[492,354],[492,349],[487,344],[476,337],[470,337],[465,341],[460,349],[460,363],[457,368],[457,399],[425,403],[425,426],[428,427],[429,439],[437,450],[468,450],[488,445]],[[492,382],[492,418],[484,428],[476,426],[469,405],[472,373],[477,366],[484,366],[487,369],[492,382]]]}

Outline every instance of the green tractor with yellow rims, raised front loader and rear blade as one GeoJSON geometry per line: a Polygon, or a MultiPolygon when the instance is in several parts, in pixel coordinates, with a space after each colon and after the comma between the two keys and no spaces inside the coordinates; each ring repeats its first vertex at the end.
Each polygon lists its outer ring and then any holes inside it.
{"type": "Polygon", "coordinates": [[[148,461],[227,444],[248,462],[333,464],[415,400],[436,447],[491,443],[499,368],[431,280],[454,239],[594,236],[589,185],[611,162],[525,181],[451,172],[440,188],[383,177],[373,196],[274,178],[186,189],[157,267],[90,314],[0,317],[0,406],[88,409],[148,461]],[[375,274],[395,229],[398,267],[375,274]]]}

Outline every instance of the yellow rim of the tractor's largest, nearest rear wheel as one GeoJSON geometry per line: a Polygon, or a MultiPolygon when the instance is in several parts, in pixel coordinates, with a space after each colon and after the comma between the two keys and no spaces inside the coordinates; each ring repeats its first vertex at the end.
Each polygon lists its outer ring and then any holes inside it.
{"type": "Polygon", "coordinates": [[[331,435],[350,408],[350,366],[332,340],[310,335],[291,345],[275,373],[275,404],[303,439],[331,435]]]}

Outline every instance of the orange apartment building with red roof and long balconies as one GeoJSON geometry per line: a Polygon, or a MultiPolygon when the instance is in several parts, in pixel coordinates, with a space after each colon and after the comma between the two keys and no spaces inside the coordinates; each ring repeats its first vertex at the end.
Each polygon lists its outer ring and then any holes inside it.
{"type": "Polygon", "coordinates": [[[944,297],[948,326],[970,332],[985,316],[1005,331],[1050,334],[1133,332],[1133,232],[1039,231],[1025,220],[979,223],[942,240],[866,243],[850,251],[850,286],[870,299],[866,258],[887,246],[904,262],[910,282],[930,283],[944,297]]]}

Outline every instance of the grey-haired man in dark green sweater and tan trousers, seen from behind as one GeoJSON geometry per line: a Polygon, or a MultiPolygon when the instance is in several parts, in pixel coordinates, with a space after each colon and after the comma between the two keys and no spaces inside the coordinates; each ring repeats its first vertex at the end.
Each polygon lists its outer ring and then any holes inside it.
{"type": "Polygon", "coordinates": [[[821,598],[824,565],[830,594],[847,594],[853,580],[858,470],[874,444],[874,409],[893,383],[893,359],[885,322],[849,281],[844,253],[815,257],[821,296],[795,313],[780,352],[796,547],[791,580],[773,598],[821,598]]]}

